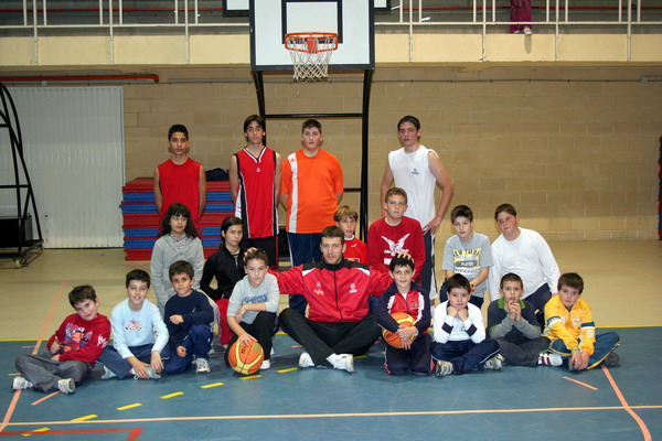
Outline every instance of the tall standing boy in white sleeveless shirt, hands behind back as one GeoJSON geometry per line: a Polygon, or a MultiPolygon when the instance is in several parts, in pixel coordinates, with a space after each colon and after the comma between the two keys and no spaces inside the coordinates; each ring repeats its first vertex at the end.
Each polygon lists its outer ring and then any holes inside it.
{"type": "MultiPolygon", "coordinates": [[[[395,186],[404,189],[410,204],[407,216],[418,220],[425,235],[425,267],[423,288],[434,298],[437,294],[435,281],[435,232],[448,209],[452,197],[453,184],[450,175],[439,161],[436,151],[420,143],[420,121],[410,115],[397,123],[397,138],[402,149],[388,153],[384,178],[382,178],[382,200],[395,181],[395,186]],[[435,211],[435,187],[441,187],[439,206],[435,211]]],[[[385,214],[385,213],[384,213],[385,214]]],[[[417,261],[417,260],[415,260],[417,261]]]]}

